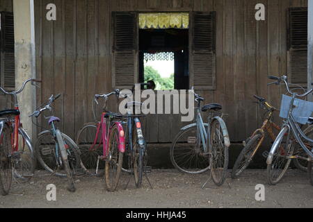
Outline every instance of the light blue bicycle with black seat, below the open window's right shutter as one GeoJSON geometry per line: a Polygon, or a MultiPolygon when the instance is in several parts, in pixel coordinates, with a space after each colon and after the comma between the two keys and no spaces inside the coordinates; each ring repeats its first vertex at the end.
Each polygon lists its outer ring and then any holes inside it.
{"type": "Polygon", "coordinates": [[[172,142],[170,160],[182,173],[204,173],[210,169],[214,183],[223,185],[228,168],[230,137],[220,112],[219,104],[204,105],[204,99],[195,94],[197,103],[195,122],[184,126],[172,142]],[[204,123],[202,112],[209,112],[208,123],[204,123]]]}

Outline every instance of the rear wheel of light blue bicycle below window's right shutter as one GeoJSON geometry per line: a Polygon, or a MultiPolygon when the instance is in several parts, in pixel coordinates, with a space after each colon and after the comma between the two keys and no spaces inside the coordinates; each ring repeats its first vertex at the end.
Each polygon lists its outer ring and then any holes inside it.
{"type": "MultiPolygon", "coordinates": [[[[210,163],[211,175],[217,186],[223,185],[228,169],[228,147],[225,146],[225,135],[223,133],[220,122],[214,119],[211,122],[210,144],[210,163]]],[[[209,143],[208,143],[209,144],[209,143]]]]}

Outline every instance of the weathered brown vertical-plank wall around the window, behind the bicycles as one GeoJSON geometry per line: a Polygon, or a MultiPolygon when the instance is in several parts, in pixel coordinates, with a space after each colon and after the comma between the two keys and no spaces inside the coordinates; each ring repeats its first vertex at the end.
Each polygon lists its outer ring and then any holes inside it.
{"type": "MultiPolygon", "coordinates": [[[[93,95],[111,91],[112,11],[216,11],[216,90],[198,94],[223,105],[232,142],[240,142],[262,121],[253,94],[279,106],[283,88],[267,87],[267,76],[287,73],[287,8],[306,6],[307,0],[35,0],[37,73],[43,80],[38,103],[64,94],[56,116],[71,137],[93,121],[93,95]],[[45,19],[48,3],[56,4],[55,22],[45,19]],[[257,3],[266,6],[266,21],[255,20],[257,3]]],[[[183,125],[177,116],[150,116],[145,135],[148,142],[171,142],[183,125]]]]}

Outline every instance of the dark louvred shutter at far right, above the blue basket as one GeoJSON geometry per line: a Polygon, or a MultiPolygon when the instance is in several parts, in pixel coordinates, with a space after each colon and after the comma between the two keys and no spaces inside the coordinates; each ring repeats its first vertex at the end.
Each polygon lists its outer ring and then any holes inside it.
{"type": "Polygon", "coordinates": [[[289,8],[289,82],[307,84],[307,8],[289,8]]]}

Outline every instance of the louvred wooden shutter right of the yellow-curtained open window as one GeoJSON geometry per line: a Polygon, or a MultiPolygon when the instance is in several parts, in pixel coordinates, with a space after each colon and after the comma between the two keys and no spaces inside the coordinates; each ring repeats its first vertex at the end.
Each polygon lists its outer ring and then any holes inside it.
{"type": "Polygon", "coordinates": [[[191,16],[191,86],[216,89],[216,12],[191,16]]]}

